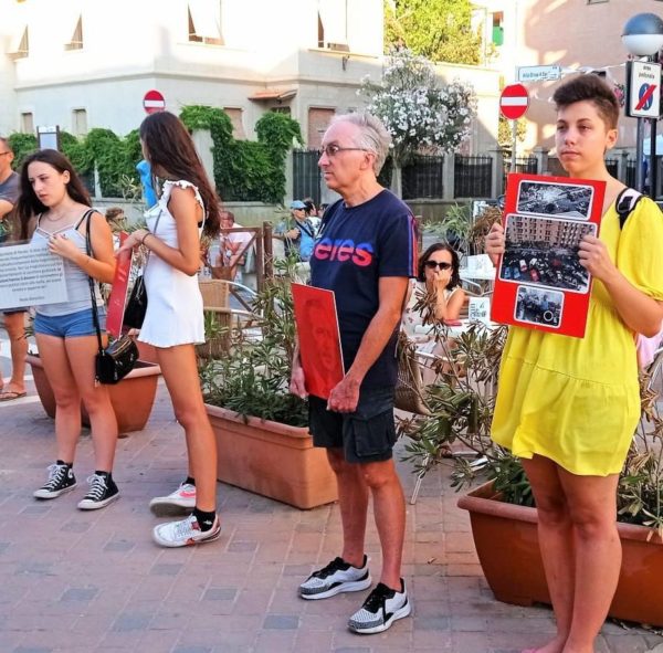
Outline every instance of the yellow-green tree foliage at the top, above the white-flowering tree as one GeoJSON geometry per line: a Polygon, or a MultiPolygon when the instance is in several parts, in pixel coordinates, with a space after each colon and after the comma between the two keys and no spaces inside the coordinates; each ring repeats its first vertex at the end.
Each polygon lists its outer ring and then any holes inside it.
{"type": "Polygon", "coordinates": [[[385,50],[408,48],[434,62],[480,62],[470,0],[385,0],[385,50]]]}

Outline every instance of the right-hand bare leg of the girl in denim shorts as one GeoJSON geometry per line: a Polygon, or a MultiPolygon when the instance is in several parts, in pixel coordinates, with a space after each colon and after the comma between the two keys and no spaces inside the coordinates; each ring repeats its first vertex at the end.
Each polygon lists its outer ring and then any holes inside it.
{"type": "Polygon", "coordinates": [[[117,445],[117,420],[108,387],[95,385],[94,359],[98,347],[96,336],[66,338],[64,347],[76,379],[78,394],[90,415],[95,470],[112,472],[117,445]]]}

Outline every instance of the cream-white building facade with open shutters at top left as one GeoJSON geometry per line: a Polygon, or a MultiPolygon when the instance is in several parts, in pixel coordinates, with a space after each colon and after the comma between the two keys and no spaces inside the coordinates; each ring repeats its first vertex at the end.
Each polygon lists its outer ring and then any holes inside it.
{"type": "MultiPolygon", "coordinates": [[[[361,106],[381,75],[382,0],[0,0],[0,133],[59,125],[119,135],[158,89],[166,108],[222,107],[238,138],[267,110],[290,114],[317,147],[334,113],[361,106]]],[[[494,146],[499,75],[439,66],[473,84],[478,117],[467,151],[494,146]]]]}

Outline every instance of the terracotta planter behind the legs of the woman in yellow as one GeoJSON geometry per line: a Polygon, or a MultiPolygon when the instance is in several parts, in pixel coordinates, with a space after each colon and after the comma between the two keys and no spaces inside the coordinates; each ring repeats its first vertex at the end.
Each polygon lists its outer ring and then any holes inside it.
{"type": "MultiPolygon", "coordinates": [[[[501,502],[492,483],[461,497],[459,507],[470,512],[474,546],[495,598],[516,605],[550,603],[536,509],[501,502]]],[[[618,524],[618,529],[623,558],[609,614],[663,625],[663,541],[644,526],[618,524]]]]}

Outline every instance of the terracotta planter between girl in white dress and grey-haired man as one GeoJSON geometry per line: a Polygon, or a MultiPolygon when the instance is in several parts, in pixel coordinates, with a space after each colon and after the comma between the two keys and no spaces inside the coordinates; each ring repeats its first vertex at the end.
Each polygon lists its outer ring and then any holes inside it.
{"type": "Polygon", "coordinates": [[[304,509],[338,498],[327,455],[313,446],[307,429],[257,418],[244,423],[238,413],[209,404],[207,411],[217,435],[219,481],[304,509]]]}

